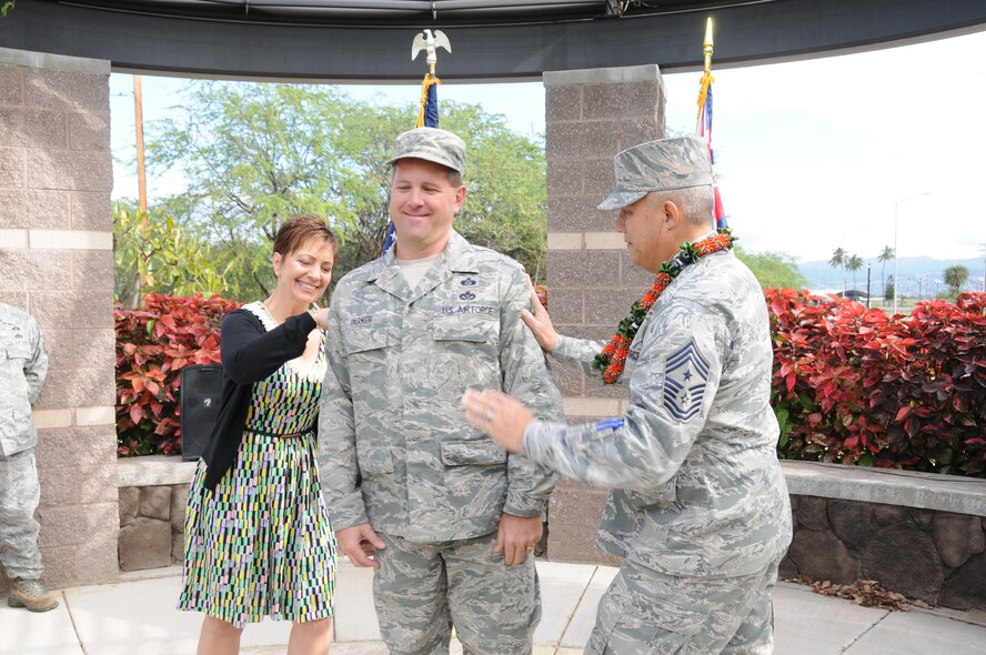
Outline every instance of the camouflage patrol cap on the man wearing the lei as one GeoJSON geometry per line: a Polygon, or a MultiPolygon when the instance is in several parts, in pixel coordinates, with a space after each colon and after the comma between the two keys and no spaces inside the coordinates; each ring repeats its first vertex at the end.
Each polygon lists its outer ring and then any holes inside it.
{"type": "Polygon", "coordinates": [[[627,148],[613,158],[616,188],[598,209],[621,209],[651,191],[712,184],[705,142],[696,137],[658,139],[627,148]]]}

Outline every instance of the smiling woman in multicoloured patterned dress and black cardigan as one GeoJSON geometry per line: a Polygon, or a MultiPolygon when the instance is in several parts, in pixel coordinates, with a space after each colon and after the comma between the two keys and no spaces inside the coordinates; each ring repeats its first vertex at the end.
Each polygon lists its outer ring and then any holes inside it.
{"type": "Polygon", "coordinates": [[[239,653],[248,623],[291,621],[290,655],[329,653],[335,538],[315,462],[339,241],[319,216],[274,238],[271,295],[222,322],[222,405],[185,513],[179,609],[202,612],[199,655],[239,653]]]}

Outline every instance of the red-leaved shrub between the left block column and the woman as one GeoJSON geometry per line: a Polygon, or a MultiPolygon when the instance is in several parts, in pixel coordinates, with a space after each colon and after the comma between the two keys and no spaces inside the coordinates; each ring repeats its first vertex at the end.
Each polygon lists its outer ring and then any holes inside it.
{"type": "Polygon", "coordinates": [[[149,293],[142,309],[113,311],[121,456],[179,452],[181,370],[220,361],[220,322],[238,306],[218,295],[149,293]]]}

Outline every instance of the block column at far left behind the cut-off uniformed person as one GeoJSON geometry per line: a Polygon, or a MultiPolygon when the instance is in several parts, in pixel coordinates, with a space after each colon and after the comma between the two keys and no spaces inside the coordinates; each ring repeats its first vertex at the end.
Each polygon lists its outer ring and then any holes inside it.
{"type": "Polygon", "coordinates": [[[0,300],[48,345],[34,423],[53,587],[119,573],[109,74],[108,61],[0,48],[0,300]]]}

